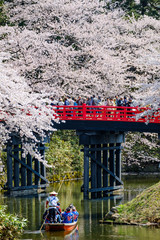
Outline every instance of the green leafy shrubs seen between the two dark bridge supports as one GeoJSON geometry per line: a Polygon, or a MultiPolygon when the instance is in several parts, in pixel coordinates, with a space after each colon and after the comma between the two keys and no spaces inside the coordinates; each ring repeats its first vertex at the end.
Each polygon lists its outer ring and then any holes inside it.
{"type": "Polygon", "coordinates": [[[49,179],[58,180],[66,173],[68,173],[67,178],[72,178],[71,172],[77,172],[81,176],[83,153],[80,149],[75,131],[54,132],[46,151],[47,162],[54,166],[47,170],[49,179]]]}

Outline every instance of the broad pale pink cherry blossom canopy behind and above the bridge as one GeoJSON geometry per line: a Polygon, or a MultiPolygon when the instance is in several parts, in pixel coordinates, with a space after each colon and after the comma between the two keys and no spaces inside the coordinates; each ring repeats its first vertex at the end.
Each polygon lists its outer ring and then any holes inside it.
{"type": "Polygon", "coordinates": [[[1,48],[34,91],[104,97],[131,93],[159,74],[159,22],[124,19],[105,1],[9,2],[13,27],[1,28],[1,48]],[[148,37],[149,36],[149,37],[148,37]]]}

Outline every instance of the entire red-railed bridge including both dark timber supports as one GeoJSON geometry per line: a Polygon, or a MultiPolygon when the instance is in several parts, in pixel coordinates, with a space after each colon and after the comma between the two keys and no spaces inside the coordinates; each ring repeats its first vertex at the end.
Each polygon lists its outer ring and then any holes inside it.
{"type": "MultiPolygon", "coordinates": [[[[84,145],[84,198],[101,198],[122,188],[121,144],[128,131],[154,132],[160,136],[160,113],[146,108],[113,106],[53,106],[57,129],[74,129],[84,145]],[[141,114],[136,121],[136,115],[141,114]],[[65,120],[61,121],[61,120],[65,120]],[[149,122],[149,124],[146,124],[149,122]],[[89,177],[90,173],[90,177],[89,177]]],[[[44,144],[39,151],[44,156],[44,144]]],[[[23,190],[46,184],[45,167],[30,155],[23,158],[20,139],[7,145],[7,188],[23,190]],[[21,167],[21,168],[20,168],[21,167]]]]}

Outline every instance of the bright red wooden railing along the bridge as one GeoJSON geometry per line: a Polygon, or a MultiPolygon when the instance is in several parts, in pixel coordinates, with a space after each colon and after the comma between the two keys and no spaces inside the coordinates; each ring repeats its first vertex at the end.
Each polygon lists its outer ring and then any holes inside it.
{"type": "Polygon", "coordinates": [[[160,123],[160,109],[152,115],[144,114],[138,120],[137,114],[143,114],[149,108],[115,106],[54,106],[55,118],[60,120],[98,120],[160,123]]]}

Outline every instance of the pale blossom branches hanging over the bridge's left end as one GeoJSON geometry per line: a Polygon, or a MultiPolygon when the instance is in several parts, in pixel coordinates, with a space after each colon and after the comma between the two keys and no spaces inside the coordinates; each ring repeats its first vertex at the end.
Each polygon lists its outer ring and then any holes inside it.
{"type": "Polygon", "coordinates": [[[29,152],[41,161],[36,144],[54,130],[50,100],[47,94],[33,92],[13,66],[3,63],[8,57],[0,53],[0,149],[11,133],[16,134],[22,139],[24,155],[29,152]]]}

